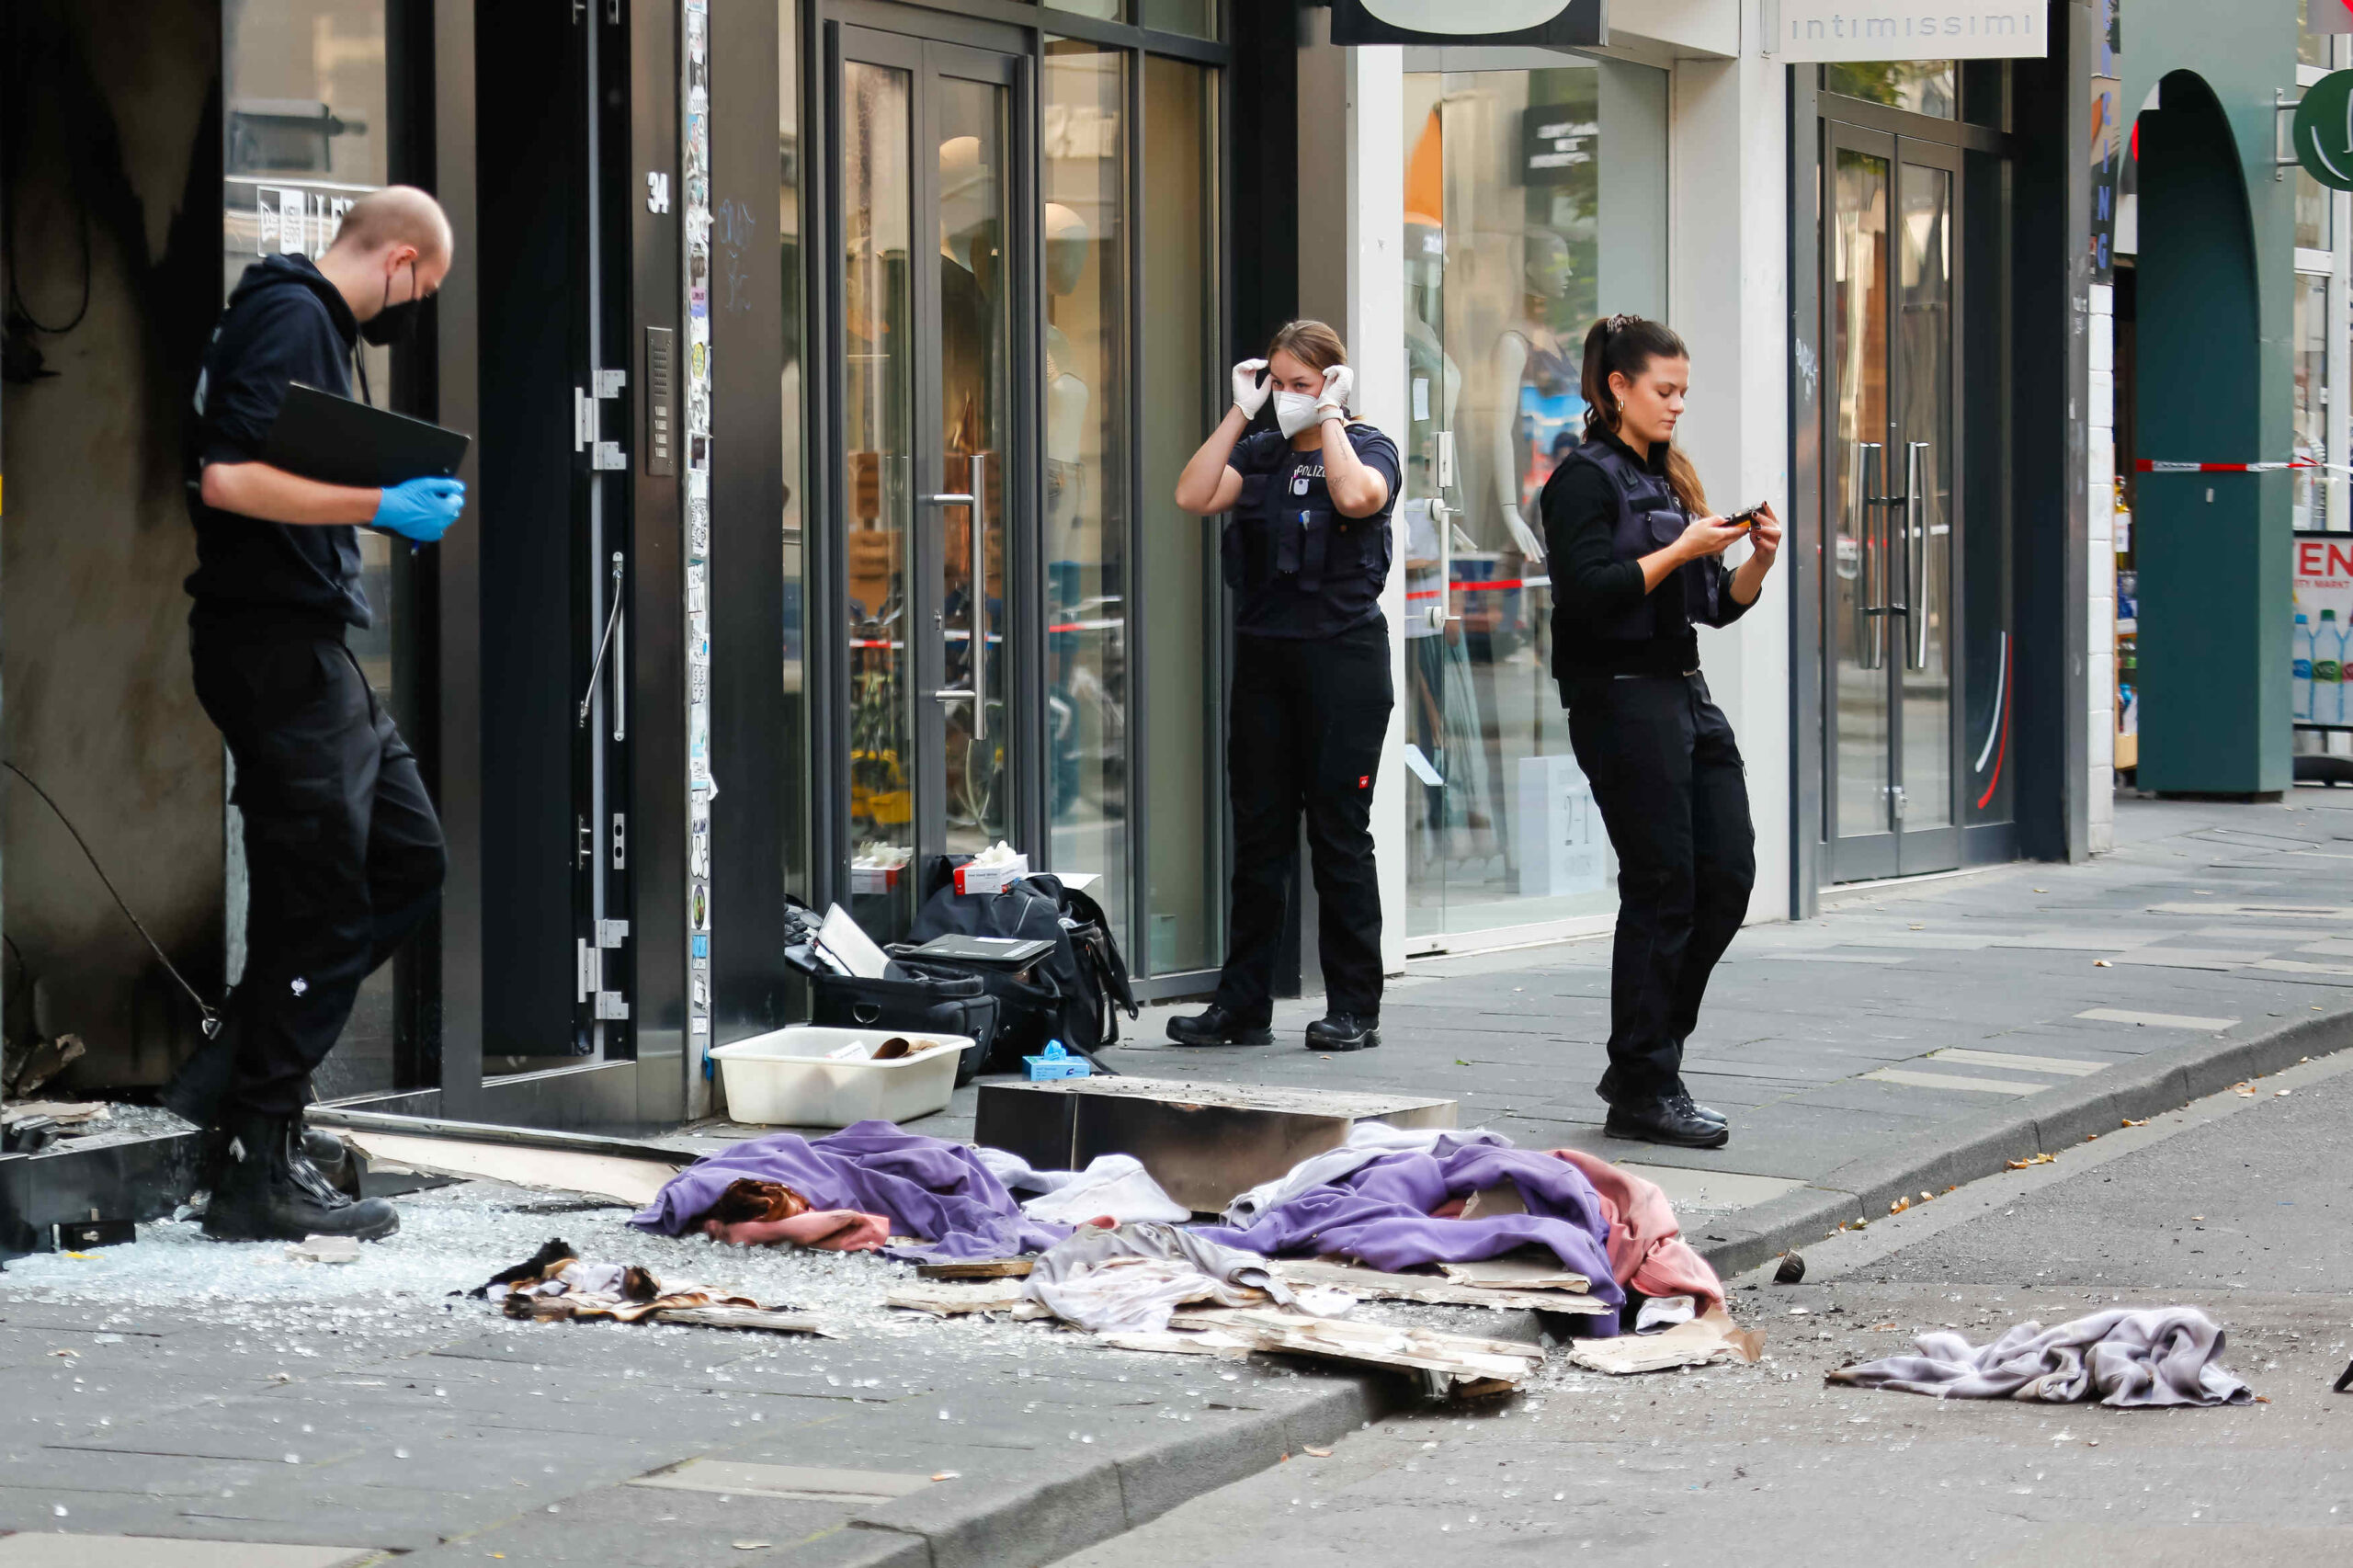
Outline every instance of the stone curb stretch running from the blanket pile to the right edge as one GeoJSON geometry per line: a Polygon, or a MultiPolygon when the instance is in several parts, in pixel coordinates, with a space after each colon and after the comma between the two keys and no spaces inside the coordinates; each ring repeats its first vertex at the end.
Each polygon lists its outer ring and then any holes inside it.
{"type": "Polygon", "coordinates": [[[2297,1019],[2245,1041],[2195,1041],[2120,1062],[2049,1088],[2012,1107],[1946,1123],[1882,1154],[1866,1154],[1795,1191],[1704,1227],[1692,1241],[1718,1274],[1732,1278],[1819,1241],[1852,1220],[1885,1217],[1901,1196],[2000,1175],[2009,1161],[2115,1130],[2125,1118],[2172,1111],[2233,1083],[2275,1074],[2304,1057],[2353,1045],[2353,1012],[2297,1019]]]}

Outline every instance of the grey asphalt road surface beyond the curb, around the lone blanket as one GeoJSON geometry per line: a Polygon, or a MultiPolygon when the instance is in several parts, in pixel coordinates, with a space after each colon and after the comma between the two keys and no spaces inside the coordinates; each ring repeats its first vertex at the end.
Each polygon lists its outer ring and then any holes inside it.
{"type": "Polygon", "coordinates": [[[1061,1568],[1318,1563],[2353,1561],[2353,1057],[2292,1067],[2049,1165],[2005,1172],[1758,1271],[1746,1368],[1546,1373],[1478,1415],[1400,1413],[1198,1497],[1061,1568]],[[2198,1307],[2264,1403],[2108,1410],[1937,1401],[1824,1373],[2108,1307],[2198,1307]]]}

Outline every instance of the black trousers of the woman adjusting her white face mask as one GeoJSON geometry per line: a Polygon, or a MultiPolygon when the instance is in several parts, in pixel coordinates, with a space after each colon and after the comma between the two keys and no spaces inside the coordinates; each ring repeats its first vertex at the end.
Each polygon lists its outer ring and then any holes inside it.
{"type": "Polygon", "coordinates": [[[1275,956],[1306,817],[1325,998],[1381,1012],[1381,881],[1372,782],[1388,739],[1388,624],[1332,638],[1233,638],[1226,789],[1233,803],[1233,921],[1217,1005],[1245,1024],[1273,1008],[1275,956]]]}

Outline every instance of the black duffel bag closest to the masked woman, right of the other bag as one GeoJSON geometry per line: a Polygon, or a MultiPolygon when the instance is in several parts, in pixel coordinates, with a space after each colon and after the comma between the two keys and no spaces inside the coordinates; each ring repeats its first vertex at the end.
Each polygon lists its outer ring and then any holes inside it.
{"type": "Polygon", "coordinates": [[[1111,1074],[1094,1052],[1120,1038],[1120,1010],[1136,1015],[1127,984],[1127,963],[1111,937],[1104,906],[1085,892],[1064,888],[1052,873],[1038,871],[1002,892],[955,892],[953,864],[934,878],[932,897],[915,911],[911,944],[892,949],[908,963],[911,946],[934,937],[1012,937],[1040,939],[1054,946],[1026,965],[915,958],[927,965],[955,965],[976,977],[998,998],[998,1036],[984,1071],[1021,1071],[1021,1057],[1061,1041],[1111,1074]]]}

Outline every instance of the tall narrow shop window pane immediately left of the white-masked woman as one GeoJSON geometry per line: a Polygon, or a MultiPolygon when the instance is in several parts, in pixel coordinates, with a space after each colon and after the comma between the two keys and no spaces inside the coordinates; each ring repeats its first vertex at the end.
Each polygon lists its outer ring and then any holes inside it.
{"type": "Polygon", "coordinates": [[[1176,509],[1176,473],[1221,412],[1217,381],[1217,73],[1176,59],[1144,64],[1144,421],[1141,579],[1148,775],[1144,963],[1151,975],[1207,970],[1224,954],[1217,777],[1217,530],[1176,509]]]}

